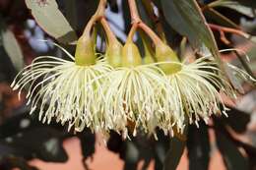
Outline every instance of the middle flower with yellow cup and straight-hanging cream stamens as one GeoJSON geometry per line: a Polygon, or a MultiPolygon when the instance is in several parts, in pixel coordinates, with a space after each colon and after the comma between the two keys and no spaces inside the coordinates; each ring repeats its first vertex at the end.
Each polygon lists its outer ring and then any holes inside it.
{"type": "Polygon", "coordinates": [[[141,65],[141,56],[133,43],[126,43],[122,50],[122,67],[109,74],[105,86],[104,111],[113,121],[113,129],[128,137],[129,124],[155,133],[160,127],[166,133],[175,125],[172,113],[173,90],[164,73],[155,64],[141,65]]]}

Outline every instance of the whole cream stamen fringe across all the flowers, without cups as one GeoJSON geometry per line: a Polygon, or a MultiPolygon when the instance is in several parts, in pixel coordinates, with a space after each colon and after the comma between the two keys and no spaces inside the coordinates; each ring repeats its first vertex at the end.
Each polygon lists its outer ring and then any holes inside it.
{"type": "MultiPolygon", "coordinates": [[[[101,59],[96,65],[78,66],[65,52],[72,61],[37,57],[12,86],[20,93],[28,87],[31,113],[36,110],[42,122],[54,119],[78,132],[87,127],[128,137],[132,126],[134,136],[138,128],[155,133],[159,127],[165,134],[175,128],[182,133],[187,122],[207,122],[212,114],[220,113],[224,107],[220,91],[234,94],[209,57],[180,63],[180,71],[165,75],[158,65],[171,62],[113,69],[101,59]]],[[[237,69],[233,70],[247,76],[237,69]]]]}

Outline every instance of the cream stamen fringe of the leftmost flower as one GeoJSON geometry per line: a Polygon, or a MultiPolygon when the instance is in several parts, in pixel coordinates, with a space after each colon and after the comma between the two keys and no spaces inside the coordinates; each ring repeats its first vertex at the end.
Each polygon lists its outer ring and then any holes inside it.
{"type": "Polygon", "coordinates": [[[81,57],[79,46],[76,57],[61,49],[71,61],[53,56],[37,57],[17,75],[13,89],[19,88],[21,93],[28,87],[27,104],[32,105],[31,114],[38,111],[43,123],[56,119],[61,124],[68,123],[69,129],[74,126],[75,131],[82,131],[85,127],[93,131],[107,129],[110,120],[100,109],[104,101],[102,85],[112,68],[104,59],[96,64],[83,64],[83,60],[77,60],[81,57]]]}

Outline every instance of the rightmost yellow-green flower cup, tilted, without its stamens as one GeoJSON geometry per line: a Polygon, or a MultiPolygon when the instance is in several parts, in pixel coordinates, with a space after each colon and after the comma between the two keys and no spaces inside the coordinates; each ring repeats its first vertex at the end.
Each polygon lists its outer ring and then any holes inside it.
{"type": "Polygon", "coordinates": [[[175,52],[166,44],[160,43],[156,46],[156,58],[159,62],[176,62],[160,65],[166,74],[175,74],[181,70],[180,61],[175,52]]]}

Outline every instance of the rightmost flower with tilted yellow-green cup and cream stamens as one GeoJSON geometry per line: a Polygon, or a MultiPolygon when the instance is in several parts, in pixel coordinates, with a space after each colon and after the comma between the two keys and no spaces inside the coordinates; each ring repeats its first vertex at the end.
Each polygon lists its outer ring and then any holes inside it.
{"type": "MultiPolygon", "coordinates": [[[[161,44],[157,47],[156,57],[160,60],[160,68],[174,89],[174,104],[179,109],[173,114],[179,118],[176,127],[178,131],[183,131],[186,120],[198,126],[198,121],[202,119],[208,123],[213,114],[223,112],[227,116],[227,108],[220,93],[235,98],[235,90],[212,56],[201,57],[192,63],[179,62],[175,53],[161,44]]],[[[226,66],[240,78],[256,81],[241,69],[231,64],[226,66]]]]}

